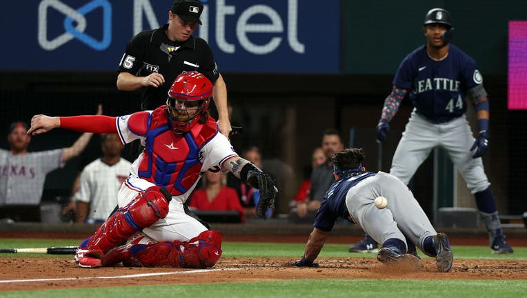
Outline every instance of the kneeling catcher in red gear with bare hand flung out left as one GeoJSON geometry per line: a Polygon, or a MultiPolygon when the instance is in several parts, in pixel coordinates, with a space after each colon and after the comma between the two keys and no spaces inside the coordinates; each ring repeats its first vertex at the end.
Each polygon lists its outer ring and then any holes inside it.
{"type": "Polygon", "coordinates": [[[123,143],[139,139],[145,146],[119,190],[119,210],[79,245],[79,266],[121,261],[129,266],[214,266],[221,256],[221,234],[183,210],[201,174],[210,168],[232,172],[259,189],[257,217],[272,208],[277,195],[272,179],[239,157],[218,133],[207,111],[211,97],[212,83],[203,74],[183,72],[168,91],[167,104],[153,111],[121,117],[33,117],[33,135],[60,127],[117,133],[123,143]]]}

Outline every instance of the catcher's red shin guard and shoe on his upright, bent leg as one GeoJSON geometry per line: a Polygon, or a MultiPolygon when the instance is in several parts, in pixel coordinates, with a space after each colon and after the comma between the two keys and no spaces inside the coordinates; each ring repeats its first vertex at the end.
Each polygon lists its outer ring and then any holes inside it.
{"type": "Polygon", "coordinates": [[[165,188],[152,186],[141,192],[124,208],[108,217],[95,234],[85,239],[77,249],[75,261],[79,266],[95,268],[102,266],[106,251],[128,239],[135,232],[166,217],[168,202],[172,199],[165,188]]]}

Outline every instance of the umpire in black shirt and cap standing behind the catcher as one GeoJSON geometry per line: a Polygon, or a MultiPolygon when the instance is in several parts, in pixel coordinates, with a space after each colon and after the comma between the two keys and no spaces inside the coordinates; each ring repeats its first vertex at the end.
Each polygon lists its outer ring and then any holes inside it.
{"type": "Polygon", "coordinates": [[[155,110],[166,101],[166,93],[182,71],[201,72],[214,86],[219,131],[228,137],[230,121],[227,87],[218,71],[208,43],[192,36],[203,5],[197,0],[175,0],[168,12],[169,22],[156,30],[135,35],[119,63],[117,88],[141,88],[141,110],[155,110]]]}

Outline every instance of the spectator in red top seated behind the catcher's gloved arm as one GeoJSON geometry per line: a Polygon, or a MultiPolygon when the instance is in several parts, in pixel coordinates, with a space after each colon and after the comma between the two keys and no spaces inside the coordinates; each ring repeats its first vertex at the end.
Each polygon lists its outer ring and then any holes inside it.
{"type": "Polygon", "coordinates": [[[245,221],[245,210],[240,204],[234,188],[226,186],[227,177],[221,172],[203,173],[203,188],[195,190],[188,206],[197,210],[235,210],[240,212],[241,222],[245,221]]]}

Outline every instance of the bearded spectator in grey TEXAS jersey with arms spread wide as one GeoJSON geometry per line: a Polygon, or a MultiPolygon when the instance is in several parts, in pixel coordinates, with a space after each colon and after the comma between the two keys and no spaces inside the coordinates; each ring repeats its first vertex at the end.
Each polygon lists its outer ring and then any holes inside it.
{"type": "MultiPolygon", "coordinates": [[[[102,113],[99,105],[97,115],[102,113]]],[[[10,150],[0,149],[0,218],[40,221],[40,203],[48,172],[62,168],[86,148],[92,133],[83,133],[71,147],[28,152],[31,136],[27,123],[11,124],[10,150]]]]}

